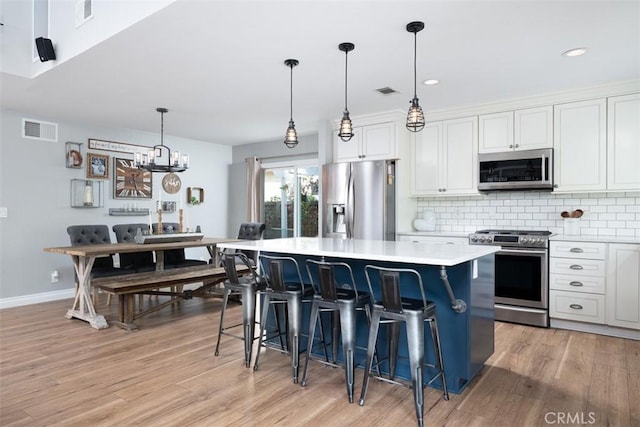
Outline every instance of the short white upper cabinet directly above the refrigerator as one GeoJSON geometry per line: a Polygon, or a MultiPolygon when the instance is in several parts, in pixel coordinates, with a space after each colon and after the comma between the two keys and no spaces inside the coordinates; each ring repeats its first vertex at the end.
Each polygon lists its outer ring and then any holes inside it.
{"type": "Polygon", "coordinates": [[[345,142],[333,135],[335,162],[385,160],[398,157],[396,123],[386,122],[354,127],[354,136],[345,142]]]}

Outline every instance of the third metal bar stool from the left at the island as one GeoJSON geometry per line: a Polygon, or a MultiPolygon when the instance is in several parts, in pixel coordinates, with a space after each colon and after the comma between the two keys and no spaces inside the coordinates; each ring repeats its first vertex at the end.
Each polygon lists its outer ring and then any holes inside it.
{"type": "MultiPolygon", "coordinates": [[[[302,387],[307,385],[307,368],[311,355],[311,345],[319,314],[331,312],[332,318],[332,338],[331,349],[333,353],[333,365],[335,366],[338,353],[338,334],[342,335],[342,353],[344,357],[344,370],[346,376],[347,396],[349,403],[353,403],[354,389],[354,353],[356,349],[356,312],[364,312],[367,317],[367,324],[371,323],[371,302],[370,294],[358,292],[353,278],[353,271],[349,264],[343,262],[324,262],[307,260],[307,273],[311,279],[311,285],[316,289],[311,305],[311,319],[309,320],[309,341],[307,343],[307,355],[302,374],[302,387]],[[312,272],[313,270],[313,272],[312,272]],[[345,273],[341,278],[341,285],[336,280],[336,270],[338,273],[345,273]],[[348,273],[348,274],[347,274],[348,273]],[[313,278],[319,278],[319,284],[315,285],[313,278]],[[347,280],[348,279],[348,280],[347,280]],[[339,325],[338,328],[338,319],[339,325]]],[[[371,292],[371,288],[369,288],[371,292]]],[[[326,352],[325,352],[326,358],[326,352]]]]}

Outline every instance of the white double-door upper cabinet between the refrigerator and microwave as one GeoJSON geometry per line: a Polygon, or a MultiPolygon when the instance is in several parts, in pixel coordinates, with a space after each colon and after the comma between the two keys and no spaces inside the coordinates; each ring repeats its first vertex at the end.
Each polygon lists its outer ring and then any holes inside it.
{"type": "Polygon", "coordinates": [[[477,117],[427,123],[410,147],[412,195],[477,194],[477,117]]]}

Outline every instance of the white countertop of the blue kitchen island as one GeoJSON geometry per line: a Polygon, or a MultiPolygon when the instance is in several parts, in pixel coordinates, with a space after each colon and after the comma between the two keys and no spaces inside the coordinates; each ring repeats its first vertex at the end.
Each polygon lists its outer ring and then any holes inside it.
{"type": "Polygon", "coordinates": [[[258,250],[295,255],[328,256],[410,264],[453,266],[500,250],[497,246],[448,245],[428,242],[346,240],[321,237],[241,240],[218,244],[219,248],[258,250]]]}

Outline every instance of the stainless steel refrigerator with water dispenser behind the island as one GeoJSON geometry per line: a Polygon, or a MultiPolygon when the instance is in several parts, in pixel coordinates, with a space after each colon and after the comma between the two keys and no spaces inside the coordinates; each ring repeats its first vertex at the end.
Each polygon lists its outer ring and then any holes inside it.
{"type": "Polygon", "coordinates": [[[322,168],[323,237],[395,240],[395,162],[322,168]]]}

